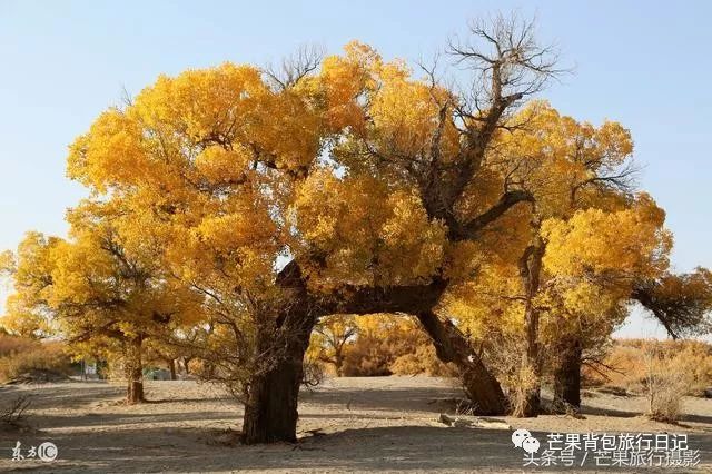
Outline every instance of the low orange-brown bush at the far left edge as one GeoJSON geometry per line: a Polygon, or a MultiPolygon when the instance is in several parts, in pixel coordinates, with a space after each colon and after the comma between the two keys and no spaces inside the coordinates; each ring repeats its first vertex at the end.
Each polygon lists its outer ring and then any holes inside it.
{"type": "Polygon", "coordinates": [[[31,342],[21,347],[0,357],[0,382],[51,382],[71,373],[71,359],[61,343],[31,342]]]}

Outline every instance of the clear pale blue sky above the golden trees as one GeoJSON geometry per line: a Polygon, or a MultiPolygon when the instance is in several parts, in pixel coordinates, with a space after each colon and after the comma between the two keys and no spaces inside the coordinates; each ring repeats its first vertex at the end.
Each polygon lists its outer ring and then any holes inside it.
{"type": "MultiPolygon", "coordinates": [[[[85,191],[67,145],[122,90],[226,60],[264,65],[300,45],[352,39],[417,59],[468,18],[536,13],[574,76],[544,97],[564,113],[632,130],[641,187],[668,210],[674,266],[712,266],[712,2],[0,0],[0,249],[28,229],[63,235],[85,191]]],[[[0,292],[1,293],[1,292],[0,292]]],[[[654,333],[635,318],[624,334],[654,333]]]]}

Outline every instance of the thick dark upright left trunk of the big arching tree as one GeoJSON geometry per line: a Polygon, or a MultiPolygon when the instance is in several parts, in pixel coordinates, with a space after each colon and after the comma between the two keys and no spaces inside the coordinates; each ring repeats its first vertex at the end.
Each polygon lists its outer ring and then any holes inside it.
{"type": "Polygon", "coordinates": [[[245,444],[297,440],[304,355],[316,318],[306,307],[289,313],[276,334],[269,328],[258,330],[257,350],[263,368],[256,372],[247,387],[243,419],[245,444]]]}

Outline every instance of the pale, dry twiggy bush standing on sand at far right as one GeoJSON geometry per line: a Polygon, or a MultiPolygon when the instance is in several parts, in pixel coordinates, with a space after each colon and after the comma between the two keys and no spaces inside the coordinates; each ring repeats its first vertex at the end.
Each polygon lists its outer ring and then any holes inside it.
{"type": "Polygon", "coordinates": [[[685,354],[671,353],[669,347],[654,343],[643,347],[643,354],[649,416],[674,423],[680,417],[682,397],[694,381],[685,354]]]}

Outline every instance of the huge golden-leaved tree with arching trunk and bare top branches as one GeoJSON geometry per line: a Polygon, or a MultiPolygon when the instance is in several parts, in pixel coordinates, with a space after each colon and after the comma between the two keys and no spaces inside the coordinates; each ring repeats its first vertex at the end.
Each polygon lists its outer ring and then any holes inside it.
{"type": "Polygon", "coordinates": [[[446,310],[492,258],[517,256],[536,369],[544,239],[577,231],[578,210],[595,220],[603,205],[572,196],[614,182],[630,137],[517,113],[557,73],[554,55],[516,19],[469,32],[449,46],[473,72],[466,87],[350,43],[280,71],[160,77],[71,147],[69,175],[129,216],[119,234],[150,235],[165,275],[201,295],[206,371],[244,398],[246,443],[295,438],[305,350],[330,314],[415,316],[476,408],[503,413],[500,383],[446,310]],[[544,231],[552,219],[563,224],[544,231]]]}

